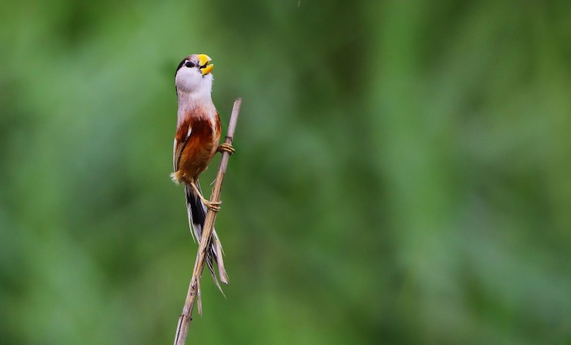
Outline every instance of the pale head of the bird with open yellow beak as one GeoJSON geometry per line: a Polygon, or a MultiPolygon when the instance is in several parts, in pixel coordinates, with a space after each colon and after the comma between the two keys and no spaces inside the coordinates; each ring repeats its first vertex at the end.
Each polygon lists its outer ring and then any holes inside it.
{"type": "Polygon", "coordinates": [[[178,91],[203,93],[212,91],[212,59],[205,54],[192,54],[182,59],[175,73],[178,91]]]}

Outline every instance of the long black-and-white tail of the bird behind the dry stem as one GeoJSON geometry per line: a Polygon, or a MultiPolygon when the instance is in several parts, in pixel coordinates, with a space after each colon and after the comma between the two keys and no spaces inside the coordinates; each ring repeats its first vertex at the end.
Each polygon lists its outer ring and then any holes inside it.
{"type": "MultiPolygon", "coordinates": [[[[201,185],[198,184],[198,182],[196,183],[196,187],[198,187],[198,191],[200,191],[202,194],[201,185]]],[[[185,185],[185,194],[187,199],[187,212],[191,233],[194,230],[194,237],[196,238],[197,242],[200,243],[202,238],[202,228],[204,226],[204,221],[206,220],[206,206],[203,204],[201,199],[196,196],[196,194],[194,194],[194,190],[190,185],[185,185]]],[[[208,253],[206,254],[206,264],[208,266],[208,270],[210,270],[212,279],[214,279],[218,289],[222,291],[222,288],[216,277],[216,273],[214,273],[214,262],[217,263],[218,266],[220,281],[224,284],[228,284],[228,275],[226,275],[226,270],[224,269],[224,261],[222,260],[222,245],[218,239],[216,229],[212,229],[212,244],[210,245],[210,250],[208,250],[208,253]]]]}

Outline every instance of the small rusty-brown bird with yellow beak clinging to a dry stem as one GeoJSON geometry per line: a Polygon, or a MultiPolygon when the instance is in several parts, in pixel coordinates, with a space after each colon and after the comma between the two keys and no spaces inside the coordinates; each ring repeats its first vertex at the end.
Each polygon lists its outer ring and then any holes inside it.
{"type": "MultiPolygon", "coordinates": [[[[191,230],[200,242],[207,208],[220,210],[220,202],[205,199],[198,176],[205,171],[217,152],[234,153],[231,145],[219,145],[221,137],[220,117],[212,103],[212,69],[214,65],[208,55],[193,54],[182,59],[175,72],[176,95],[178,97],[178,121],[173,148],[174,172],[171,178],[185,186],[187,212],[191,230]]],[[[217,263],[220,281],[228,284],[224,270],[222,250],[216,230],[212,231],[212,246],[206,256],[206,263],[214,282],[220,285],[214,273],[217,263]]]]}

